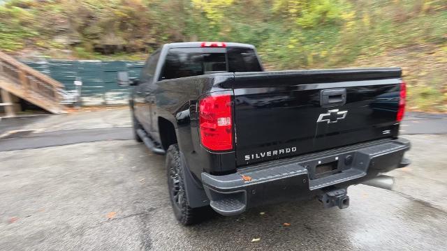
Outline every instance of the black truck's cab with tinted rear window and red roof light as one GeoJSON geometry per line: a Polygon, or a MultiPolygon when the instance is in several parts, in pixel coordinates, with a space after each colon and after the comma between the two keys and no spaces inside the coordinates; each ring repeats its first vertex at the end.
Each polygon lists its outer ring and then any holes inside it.
{"type": "Polygon", "coordinates": [[[238,43],[170,43],[156,50],[142,68],[133,90],[135,118],[161,143],[156,91],[163,80],[213,73],[259,72],[254,46],[238,43]]]}

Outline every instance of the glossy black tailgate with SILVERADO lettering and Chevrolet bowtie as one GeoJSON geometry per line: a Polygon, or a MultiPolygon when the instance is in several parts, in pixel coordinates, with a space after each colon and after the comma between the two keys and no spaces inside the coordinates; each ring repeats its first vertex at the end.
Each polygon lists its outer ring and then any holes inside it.
{"type": "Polygon", "coordinates": [[[400,68],[235,73],[237,165],[397,137],[400,68]]]}

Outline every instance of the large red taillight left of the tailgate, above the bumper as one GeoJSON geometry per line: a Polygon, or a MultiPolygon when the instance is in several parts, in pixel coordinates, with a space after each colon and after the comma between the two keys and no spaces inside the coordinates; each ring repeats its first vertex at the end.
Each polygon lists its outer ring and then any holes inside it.
{"type": "Polygon", "coordinates": [[[199,102],[199,130],[202,145],[212,151],[233,149],[231,96],[207,96],[199,102]]]}

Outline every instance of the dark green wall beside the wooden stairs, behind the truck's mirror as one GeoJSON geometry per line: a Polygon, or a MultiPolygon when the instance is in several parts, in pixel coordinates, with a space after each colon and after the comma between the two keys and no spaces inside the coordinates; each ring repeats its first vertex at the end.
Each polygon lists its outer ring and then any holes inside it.
{"type": "Polygon", "coordinates": [[[61,82],[68,91],[74,90],[75,79],[80,79],[83,105],[110,105],[127,102],[129,94],[129,88],[117,85],[117,72],[128,71],[129,77],[138,77],[145,62],[48,60],[24,63],[61,82]]]}

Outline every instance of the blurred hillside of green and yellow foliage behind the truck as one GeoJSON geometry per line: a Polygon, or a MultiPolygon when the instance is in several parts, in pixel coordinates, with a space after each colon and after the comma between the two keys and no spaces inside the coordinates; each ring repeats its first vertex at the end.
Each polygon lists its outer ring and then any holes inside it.
{"type": "Polygon", "coordinates": [[[401,66],[409,107],[447,111],[446,0],[10,0],[0,50],[145,59],[162,43],[258,47],[268,69],[401,66]]]}

